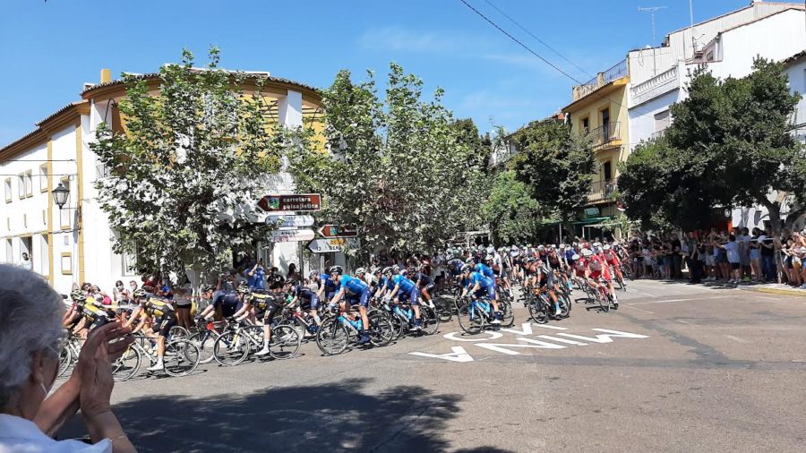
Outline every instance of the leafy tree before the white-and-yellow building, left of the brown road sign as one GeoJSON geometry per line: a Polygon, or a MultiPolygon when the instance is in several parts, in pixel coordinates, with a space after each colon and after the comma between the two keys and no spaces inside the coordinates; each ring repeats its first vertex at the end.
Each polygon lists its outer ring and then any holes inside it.
{"type": "Polygon", "coordinates": [[[269,123],[262,81],[244,93],[245,74],[218,64],[212,48],[206,68],[193,69],[185,50],[181,64],[160,69],[158,95],[124,75],[126,131],[100,124],[90,144],[111,171],[96,185],[115,250],[136,252],[142,272],[193,269],[203,278],[268,231],[254,222],[254,201],[293,141],[269,123]]]}

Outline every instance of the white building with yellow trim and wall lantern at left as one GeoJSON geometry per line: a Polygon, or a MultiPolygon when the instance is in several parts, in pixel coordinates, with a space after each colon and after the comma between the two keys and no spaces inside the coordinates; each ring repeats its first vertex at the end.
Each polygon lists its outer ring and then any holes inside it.
{"type": "MultiPolygon", "coordinates": [[[[268,73],[262,73],[267,76],[268,73]]],[[[159,74],[141,76],[159,92],[159,74]]],[[[247,84],[250,82],[247,82],[247,84]]],[[[249,90],[246,87],[244,90],[249,90]]],[[[322,119],[321,97],[313,87],[269,77],[264,95],[276,103],[276,121],[296,126],[322,119]]],[[[73,283],[91,281],[107,291],[116,280],[138,280],[131,269],[133,256],[112,252],[115,232],[99,206],[95,182],[106,169],[90,151],[89,143],[101,122],[120,128],[116,107],[125,95],[123,81],[112,81],[101,71],[99,84],[86,84],[81,100],[48,116],[37,128],[0,148],[0,175],[4,200],[0,202],[0,262],[18,264],[28,253],[33,270],[67,294],[73,283]],[[53,201],[51,191],[64,184],[70,195],[64,209],[53,201]]],[[[319,123],[317,123],[319,124],[319,123]]],[[[315,128],[316,126],[314,126],[315,128]]],[[[290,178],[267,187],[268,192],[289,192],[290,178]]],[[[281,269],[299,263],[297,243],[261,247],[265,261],[281,269]]]]}

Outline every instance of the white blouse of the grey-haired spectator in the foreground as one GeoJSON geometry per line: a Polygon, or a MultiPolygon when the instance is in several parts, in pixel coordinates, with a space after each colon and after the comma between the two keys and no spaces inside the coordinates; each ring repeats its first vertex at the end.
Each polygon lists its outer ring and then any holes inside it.
{"type": "Polygon", "coordinates": [[[0,453],[111,453],[108,439],[90,445],[79,440],[53,440],[24,418],[0,414],[0,453]]]}

